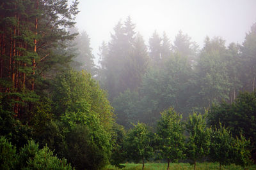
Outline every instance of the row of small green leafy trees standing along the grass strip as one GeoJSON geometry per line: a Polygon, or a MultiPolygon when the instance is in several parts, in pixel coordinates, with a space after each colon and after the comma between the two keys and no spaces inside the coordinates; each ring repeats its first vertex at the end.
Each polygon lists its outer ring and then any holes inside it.
{"type": "MultiPolygon", "coordinates": [[[[135,162],[141,161],[142,169],[145,159],[152,157],[167,160],[167,169],[170,162],[184,159],[190,160],[191,164],[194,164],[194,169],[196,162],[202,159],[219,162],[220,169],[221,165],[232,163],[248,166],[250,141],[242,135],[232,137],[230,131],[221,124],[218,129],[207,127],[206,115],[193,113],[186,122],[183,122],[182,115],[173,108],[165,110],[161,113],[155,133],[150,131],[147,125],[138,123],[127,132],[124,142],[119,143],[119,150],[116,152],[124,150],[119,156],[135,162]]],[[[118,166],[117,161],[120,159],[113,161],[112,164],[118,166]]]]}

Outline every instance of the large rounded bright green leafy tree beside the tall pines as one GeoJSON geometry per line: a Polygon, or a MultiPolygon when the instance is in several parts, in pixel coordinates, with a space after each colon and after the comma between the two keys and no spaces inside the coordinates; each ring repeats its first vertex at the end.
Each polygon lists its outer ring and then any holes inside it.
{"type": "MultiPolygon", "coordinates": [[[[102,169],[109,162],[113,112],[106,92],[85,71],[67,70],[53,81],[52,106],[38,111],[42,120],[36,139],[47,143],[76,169],[102,169]],[[49,122],[47,113],[49,114],[49,122]]],[[[42,106],[49,106],[46,100],[42,106]]],[[[40,106],[40,104],[38,104],[40,106]]]]}

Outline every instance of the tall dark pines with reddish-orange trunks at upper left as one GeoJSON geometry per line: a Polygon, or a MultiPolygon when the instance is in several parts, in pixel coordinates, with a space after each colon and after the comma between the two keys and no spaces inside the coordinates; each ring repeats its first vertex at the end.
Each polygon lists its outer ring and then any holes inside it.
{"type": "Polygon", "coordinates": [[[74,25],[77,1],[70,6],[65,0],[1,1],[0,10],[1,92],[12,100],[16,117],[22,117],[36,101],[37,80],[70,61],[54,49],[74,37],[66,27],[74,25]]]}

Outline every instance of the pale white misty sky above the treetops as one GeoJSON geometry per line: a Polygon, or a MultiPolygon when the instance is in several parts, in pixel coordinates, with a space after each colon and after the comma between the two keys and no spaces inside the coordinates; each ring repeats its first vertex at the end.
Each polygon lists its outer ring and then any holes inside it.
{"type": "Polygon", "coordinates": [[[243,43],[245,33],[256,22],[255,9],[256,0],[81,0],[76,26],[90,36],[95,57],[118,20],[127,16],[146,43],[154,30],[160,35],[166,31],[171,42],[182,30],[200,47],[205,36],[221,36],[228,45],[243,43]]]}

